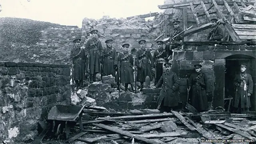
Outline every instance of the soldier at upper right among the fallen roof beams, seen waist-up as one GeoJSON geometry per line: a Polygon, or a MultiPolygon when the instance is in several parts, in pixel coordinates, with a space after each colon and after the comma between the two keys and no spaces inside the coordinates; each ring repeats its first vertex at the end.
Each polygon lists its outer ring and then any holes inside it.
{"type": "Polygon", "coordinates": [[[223,38],[223,32],[222,32],[222,28],[220,28],[218,25],[216,25],[216,22],[218,20],[216,18],[212,18],[211,22],[212,22],[212,30],[210,31],[207,40],[209,41],[221,41],[221,39],[223,38]]]}

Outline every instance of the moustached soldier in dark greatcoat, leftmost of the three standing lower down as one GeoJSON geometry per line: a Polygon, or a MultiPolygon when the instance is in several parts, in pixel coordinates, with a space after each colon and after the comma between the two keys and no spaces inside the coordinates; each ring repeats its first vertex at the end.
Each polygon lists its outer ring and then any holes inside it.
{"type": "Polygon", "coordinates": [[[160,80],[153,88],[162,86],[160,95],[157,100],[158,110],[160,112],[170,112],[170,110],[178,109],[179,102],[179,79],[178,76],[171,71],[170,63],[164,64],[166,72],[163,72],[160,80]]]}

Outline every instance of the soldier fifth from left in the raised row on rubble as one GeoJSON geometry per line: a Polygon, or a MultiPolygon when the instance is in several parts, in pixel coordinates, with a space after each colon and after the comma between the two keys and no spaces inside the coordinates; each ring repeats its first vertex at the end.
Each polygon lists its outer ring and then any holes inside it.
{"type": "Polygon", "coordinates": [[[140,40],[140,49],[136,52],[136,68],[137,68],[137,82],[140,82],[142,91],[143,83],[145,82],[146,76],[152,81],[152,68],[154,68],[154,60],[150,53],[145,47],[146,40],[140,40]]]}

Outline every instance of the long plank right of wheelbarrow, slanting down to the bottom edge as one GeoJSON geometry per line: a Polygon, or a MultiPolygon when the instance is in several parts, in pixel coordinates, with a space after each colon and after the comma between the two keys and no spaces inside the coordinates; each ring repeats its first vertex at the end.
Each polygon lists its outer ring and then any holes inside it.
{"type": "MultiPolygon", "coordinates": [[[[143,142],[146,142],[148,144],[156,144],[157,142],[155,142],[154,140],[149,140],[147,138],[144,138],[142,136],[139,136],[139,135],[134,135],[134,134],[131,134],[130,132],[126,132],[124,130],[120,130],[120,129],[117,129],[117,128],[112,128],[111,126],[106,126],[104,124],[92,124],[94,126],[98,126],[100,128],[104,128],[106,130],[109,130],[109,131],[112,131],[112,132],[115,132],[115,133],[118,133],[118,134],[121,134],[121,135],[124,135],[124,136],[128,136],[130,138],[134,138],[134,139],[137,139],[137,140],[141,140],[143,142]]],[[[146,136],[149,136],[149,134],[147,134],[146,136]]],[[[163,142],[164,144],[164,142],[163,142]]],[[[165,143],[166,144],[166,143],[165,143]]]]}

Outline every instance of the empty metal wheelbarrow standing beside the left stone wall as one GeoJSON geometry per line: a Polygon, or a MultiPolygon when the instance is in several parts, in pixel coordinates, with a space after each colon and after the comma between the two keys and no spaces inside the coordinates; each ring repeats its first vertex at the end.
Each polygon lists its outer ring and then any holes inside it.
{"type": "Polygon", "coordinates": [[[84,106],[76,105],[56,105],[51,108],[48,114],[47,122],[52,124],[52,132],[54,135],[60,138],[61,135],[64,138],[68,138],[70,128],[74,128],[79,121],[80,130],[83,130],[82,126],[82,112],[84,106]]]}

